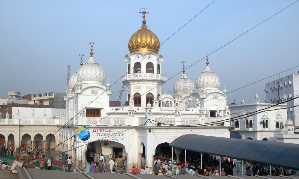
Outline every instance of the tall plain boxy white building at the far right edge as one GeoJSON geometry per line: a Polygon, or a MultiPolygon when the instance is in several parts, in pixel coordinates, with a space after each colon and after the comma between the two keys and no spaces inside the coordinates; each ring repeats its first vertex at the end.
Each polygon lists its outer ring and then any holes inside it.
{"type": "MultiPolygon", "coordinates": [[[[299,95],[299,74],[290,74],[274,81],[266,83],[265,103],[281,102],[283,95],[291,99],[294,95],[299,95]]],[[[287,102],[289,107],[299,105],[299,98],[287,102]]],[[[290,118],[295,126],[299,126],[299,107],[289,108],[287,117],[290,118]]]]}

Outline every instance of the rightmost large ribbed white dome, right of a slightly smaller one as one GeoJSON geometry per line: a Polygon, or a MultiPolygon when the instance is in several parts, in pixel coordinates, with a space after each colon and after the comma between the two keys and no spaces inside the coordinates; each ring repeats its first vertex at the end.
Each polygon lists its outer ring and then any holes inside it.
{"type": "Polygon", "coordinates": [[[206,89],[219,89],[220,80],[218,76],[210,70],[210,67],[207,65],[205,70],[198,75],[196,78],[196,88],[206,88],[206,89]]]}

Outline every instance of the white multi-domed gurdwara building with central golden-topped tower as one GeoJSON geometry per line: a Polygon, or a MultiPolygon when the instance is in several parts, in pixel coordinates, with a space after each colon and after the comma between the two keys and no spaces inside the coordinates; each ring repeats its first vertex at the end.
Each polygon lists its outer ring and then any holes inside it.
{"type": "MultiPolygon", "coordinates": [[[[219,122],[230,118],[226,90],[219,90],[220,80],[210,69],[208,56],[206,64],[198,64],[203,71],[195,85],[183,66],[181,77],[173,85],[174,95],[162,92],[167,77],[163,75],[160,41],[147,26],[147,12],[142,13],[142,26],[129,38],[130,53],[125,55],[123,71],[119,72],[119,75],[127,72],[121,78],[126,86],[125,106],[110,106],[109,80],[105,84],[105,71],[95,60],[100,55],[94,54],[93,42],[88,61],[81,63],[70,78],[66,91],[66,120],[61,120],[60,124],[74,119],[59,131],[59,142],[76,135],[76,141],[87,143],[74,142],[72,138],[60,145],[59,150],[72,151],[77,166],[84,167],[90,153],[103,153],[106,159],[115,154],[116,163],[124,161],[128,168],[136,165],[140,169],[147,165],[152,170],[153,155],[171,154],[169,143],[181,135],[230,137],[230,122],[219,122]],[[196,126],[205,123],[210,125],[196,126]],[[106,130],[101,130],[104,128],[106,130]],[[116,135],[119,133],[121,135],[116,135]],[[71,150],[73,144],[74,150],[71,150]]],[[[177,161],[181,152],[181,149],[174,149],[177,161]]]]}

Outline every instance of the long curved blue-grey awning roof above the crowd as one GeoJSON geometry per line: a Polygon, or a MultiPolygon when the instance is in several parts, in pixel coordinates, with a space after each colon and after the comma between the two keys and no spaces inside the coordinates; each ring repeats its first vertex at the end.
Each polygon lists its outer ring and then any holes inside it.
{"type": "Polygon", "coordinates": [[[176,138],[169,146],[299,169],[299,144],[187,134],[176,138]]]}

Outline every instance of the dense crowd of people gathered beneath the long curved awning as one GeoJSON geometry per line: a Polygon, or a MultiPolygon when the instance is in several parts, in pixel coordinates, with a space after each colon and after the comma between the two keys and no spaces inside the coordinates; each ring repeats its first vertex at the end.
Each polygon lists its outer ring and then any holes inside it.
{"type": "MultiPolygon", "coordinates": [[[[154,156],[154,172],[156,175],[191,175],[191,176],[209,176],[209,175],[233,175],[234,166],[238,171],[241,171],[241,166],[244,165],[246,169],[245,175],[255,176],[255,175],[270,175],[269,165],[260,164],[260,163],[250,163],[244,162],[241,160],[225,158],[225,160],[221,161],[221,165],[218,160],[215,158],[208,158],[209,155],[202,155],[202,164],[200,153],[188,151],[187,162],[185,162],[185,156],[180,155],[178,161],[172,160],[171,152],[169,153],[161,153],[155,154],[154,156]],[[202,166],[202,168],[201,168],[202,166]],[[221,168],[220,168],[221,166],[221,168]],[[156,167],[156,168],[155,168],[156,167]]],[[[176,156],[176,155],[175,155],[176,156]]],[[[176,159],[176,158],[175,158],[176,159]]],[[[222,159],[222,158],[221,158],[222,159]]],[[[224,159],[224,158],[223,158],[224,159]]],[[[271,175],[279,176],[279,175],[299,175],[299,171],[292,169],[283,169],[282,167],[271,167],[271,175]]]]}

